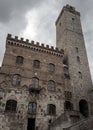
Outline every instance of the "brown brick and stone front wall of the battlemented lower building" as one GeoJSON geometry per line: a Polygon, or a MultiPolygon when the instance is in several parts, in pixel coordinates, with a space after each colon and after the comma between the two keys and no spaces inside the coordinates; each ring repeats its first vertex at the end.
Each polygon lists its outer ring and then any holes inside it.
{"type": "Polygon", "coordinates": [[[2,130],[26,130],[28,118],[35,119],[36,128],[44,130],[49,120],[53,121],[64,112],[63,54],[64,51],[57,48],[44,47],[43,44],[40,46],[33,41],[30,43],[11,35],[7,36],[6,51],[0,70],[0,91],[3,92],[0,108],[2,130]],[[24,58],[23,63],[16,63],[18,56],[24,58]],[[40,66],[34,66],[34,61],[40,61],[40,66]],[[54,70],[51,68],[49,70],[49,64],[54,65],[54,70]],[[13,84],[14,75],[21,76],[20,84],[13,84]],[[31,90],[34,77],[39,80],[39,88],[31,90]],[[48,88],[49,81],[54,81],[55,90],[48,88]],[[10,99],[17,101],[16,112],[5,110],[6,102],[10,99]],[[30,102],[37,104],[37,111],[34,114],[28,112],[30,102]],[[55,115],[48,114],[48,104],[56,106],[55,115]],[[5,124],[3,120],[6,120],[5,124]]]}

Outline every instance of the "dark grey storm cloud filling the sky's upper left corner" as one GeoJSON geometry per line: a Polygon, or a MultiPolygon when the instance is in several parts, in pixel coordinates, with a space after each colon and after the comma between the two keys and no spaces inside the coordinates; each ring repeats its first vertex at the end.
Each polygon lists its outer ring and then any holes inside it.
{"type": "MultiPolygon", "coordinates": [[[[42,0],[0,0],[0,22],[8,22],[14,14],[24,15],[42,0]]],[[[16,16],[17,17],[17,16],[16,16]]]]}

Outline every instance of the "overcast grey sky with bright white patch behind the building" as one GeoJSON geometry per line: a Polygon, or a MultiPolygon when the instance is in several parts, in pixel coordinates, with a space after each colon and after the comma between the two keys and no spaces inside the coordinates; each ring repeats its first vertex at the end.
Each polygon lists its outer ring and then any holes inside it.
{"type": "Polygon", "coordinates": [[[5,51],[7,33],[55,46],[55,21],[66,4],[74,6],[81,13],[93,79],[92,0],[0,0],[0,65],[5,51]]]}

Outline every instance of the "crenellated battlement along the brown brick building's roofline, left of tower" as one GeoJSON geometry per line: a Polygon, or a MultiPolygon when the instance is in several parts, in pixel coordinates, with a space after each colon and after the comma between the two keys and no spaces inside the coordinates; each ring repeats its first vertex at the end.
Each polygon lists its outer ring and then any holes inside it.
{"type": "Polygon", "coordinates": [[[63,49],[59,50],[58,48],[54,48],[53,46],[51,47],[49,45],[45,46],[44,43],[40,44],[39,42],[35,42],[35,41],[30,42],[29,39],[24,40],[24,38],[22,37],[21,38],[19,38],[18,36],[13,37],[12,34],[7,35],[6,43],[10,45],[16,45],[16,46],[28,48],[34,51],[49,53],[56,56],[63,56],[64,54],[63,49]]]}

